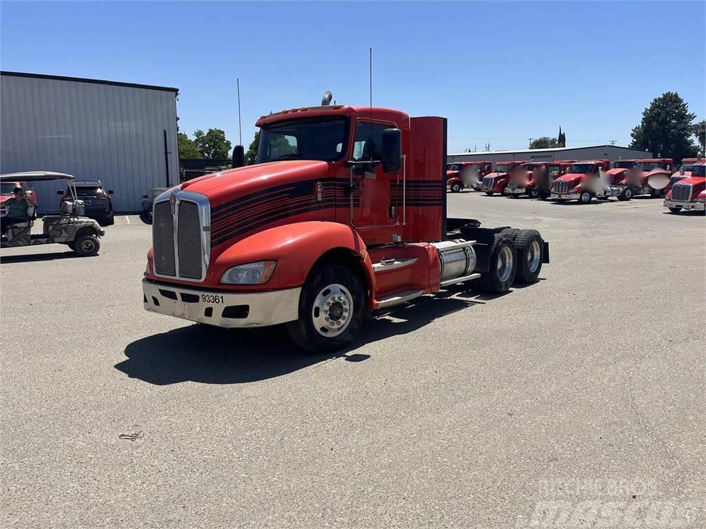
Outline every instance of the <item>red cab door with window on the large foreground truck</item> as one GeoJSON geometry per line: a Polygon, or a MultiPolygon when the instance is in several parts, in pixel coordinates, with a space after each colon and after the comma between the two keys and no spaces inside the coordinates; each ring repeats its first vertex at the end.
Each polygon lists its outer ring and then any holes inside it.
{"type": "Polygon", "coordinates": [[[352,154],[349,160],[349,194],[351,206],[336,208],[340,222],[350,224],[368,235],[374,243],[392,241],[393,226],[401,214],[397,204],[400,176],[383,171],[383,130],[396,128],[395,123],[359,119],[354,126],[352,154]],[[388,233],[389,232],[389,233],[388,233]]]}

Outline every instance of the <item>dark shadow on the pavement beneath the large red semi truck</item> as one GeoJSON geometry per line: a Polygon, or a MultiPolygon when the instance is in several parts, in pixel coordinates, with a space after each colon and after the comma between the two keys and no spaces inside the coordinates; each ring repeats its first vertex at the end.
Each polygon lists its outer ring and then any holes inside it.
{"type": "Polygon", "coordinates": [[[286,375],[331,358],[357,363],[370,358],[351,353],[364,344],[412,332],[438,317],[500,297],[479,295],[468,288],[457,285],[436,296],[421,296],[406,305],[376,313],[364,322],[359,339],[337,353],[315,355],[301,351],[289,341],[283,326],[220,329],[193,324],[133,341],[125,348],[127,359],[115,367],[128,377],[150,384],[241,384],[286,375]]]}

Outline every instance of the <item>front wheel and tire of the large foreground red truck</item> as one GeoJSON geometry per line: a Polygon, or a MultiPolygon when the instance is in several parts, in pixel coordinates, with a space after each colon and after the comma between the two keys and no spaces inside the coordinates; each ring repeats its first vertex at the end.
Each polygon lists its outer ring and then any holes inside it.
{"type": "Polygon", "coordinates": [[[320,265],[310,272],[301,289],[299,318],[286,324],[287,334],[305,351],[338,351],[358,334],[365,312],[365,289],[358,276],[342,265],[320,265]],[[335,309],[337,319],[332,317],[332,322],[325,322],[325,308],[332,312],[335,309]],[[342,327],[336,329],[333,322],[342,320],[342,327]]]}

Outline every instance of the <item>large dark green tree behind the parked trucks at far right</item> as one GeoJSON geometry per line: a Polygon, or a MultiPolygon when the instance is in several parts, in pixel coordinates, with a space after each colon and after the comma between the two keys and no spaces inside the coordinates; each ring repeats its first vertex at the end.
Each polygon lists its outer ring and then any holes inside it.
{"type": "Polygon", "coordinates": [[[642,111],[640,125],[630,135],[633,149],[648,150],[655,156],[681,160],[696,154],[691,140],[696,114],[676,92],[664,92],[642,111]]]}

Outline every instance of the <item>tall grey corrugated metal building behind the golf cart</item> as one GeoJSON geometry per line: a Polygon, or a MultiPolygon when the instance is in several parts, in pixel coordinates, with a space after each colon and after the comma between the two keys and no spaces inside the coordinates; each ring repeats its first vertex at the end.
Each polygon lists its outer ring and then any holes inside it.
{"type": "MultiPolygon", "coordinates": [[[[0,73],[0,172],[59,171],[114,190],[116,212],[137,212],[150,188],[179,183],[177,88],[0,73]]],[[[35,187],[39,212],[60,184],[35,187]]]]}

